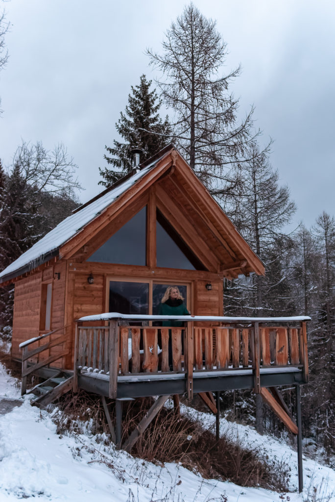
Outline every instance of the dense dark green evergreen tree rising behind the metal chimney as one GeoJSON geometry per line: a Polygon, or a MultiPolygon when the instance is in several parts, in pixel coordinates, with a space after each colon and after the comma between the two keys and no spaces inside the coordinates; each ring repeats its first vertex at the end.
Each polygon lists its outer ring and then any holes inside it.
{"type": "Polygon", "coordinates": [[[145,75],[141,75],[139,85],[131,86],[125,112],[121,111],[115,124],[125,143],[114,140],[113,147],[105,147],[109,155],[104,155],[104,158],[108,165],[116,169],[99,168],[103,178],[99,185],[108,186],[131,171],[132,148],[140,148],[143,151],[141,160],[144,161],[171,143],[171,126],[167,116],[162,121],[158,114],[161,100],[158,99],[155,89],[150,91],[151,82],[145,75]]]}

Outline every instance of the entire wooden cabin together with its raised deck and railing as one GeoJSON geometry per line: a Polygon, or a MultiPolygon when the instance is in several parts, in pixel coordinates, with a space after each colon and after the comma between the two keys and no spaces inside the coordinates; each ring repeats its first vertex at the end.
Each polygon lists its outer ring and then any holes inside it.
{"type": "Polygon", "coordinates": [[[12,355],[23,357],[24,382],[51,366],[68,371],[64,390],[160,395],[159,406],[197,392],[218,412],[212,392],[253,388],[298,433],[275,388],[307,381],[308,318],[225,317],[223,281],[251,273],[264,264],[170,145],[0,274],[15,283],[12,355]],[[155,326],[168,285],[196,316],[182,328],[155,326]]]}

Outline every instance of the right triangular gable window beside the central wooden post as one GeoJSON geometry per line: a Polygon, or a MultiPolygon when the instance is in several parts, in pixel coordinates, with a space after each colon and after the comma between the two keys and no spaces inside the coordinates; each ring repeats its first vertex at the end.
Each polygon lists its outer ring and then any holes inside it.
{"type": "Polygon", "coordinates": [[[169,269],[207,270],[158,209],[156,263],[157,267],[169,269]]]}

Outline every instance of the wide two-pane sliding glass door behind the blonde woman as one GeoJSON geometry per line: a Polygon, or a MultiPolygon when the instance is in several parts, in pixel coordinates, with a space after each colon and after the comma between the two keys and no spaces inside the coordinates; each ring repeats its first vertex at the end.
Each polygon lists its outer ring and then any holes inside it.
{"type": "Polygon", "coordinates": [[[190,310],[189,284],[162,284],[157,281],[143,282],[109,281],[109,312],[120,314],[153,314],[159,312],[159,304],[166,288],[177,286],[184,297],[184,303],[190,310]]]}

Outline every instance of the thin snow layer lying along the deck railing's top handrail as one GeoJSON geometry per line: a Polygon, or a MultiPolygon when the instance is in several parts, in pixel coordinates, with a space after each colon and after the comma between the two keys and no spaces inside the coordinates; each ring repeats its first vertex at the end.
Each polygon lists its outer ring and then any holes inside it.
{"type": "Polygon", "coordinates": [[[120,314],[119,312],[106,312],[104,314],[87,315],[79,321],[108,321],[108,319],[129,319],[144,321],[180,320],[180,321],[220,321],[220,322],[293,322],[310,321],[308,316],[294,317],[227,317],[227,316],[204,316],[204,315],[145,315],[145,314],[120,314]]]}

